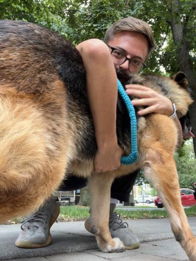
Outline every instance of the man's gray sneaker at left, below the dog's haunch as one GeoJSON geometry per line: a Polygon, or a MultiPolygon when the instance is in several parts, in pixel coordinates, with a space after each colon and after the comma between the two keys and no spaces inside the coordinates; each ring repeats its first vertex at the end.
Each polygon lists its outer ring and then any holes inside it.
{"type": "Polygon", "coordinates": [[[50,199],[35,214],[25,217],[15,245],[22,248],[48,246],[51,242],[49,230],[59,212],[59,204],[50,199]]]}

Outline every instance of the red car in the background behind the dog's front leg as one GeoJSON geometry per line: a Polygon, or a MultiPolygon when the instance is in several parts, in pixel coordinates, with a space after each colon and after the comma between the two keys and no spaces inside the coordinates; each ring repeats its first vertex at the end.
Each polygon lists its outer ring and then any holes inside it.
{"type": "MultiPolygon", "coordinates": [[[[193,193],[194,193],[194,190],[180,189],[182,206],[195,206],[196,205],[196,200],[194,198],[193,193]]],[[[163,202],[161,201],[161,198],[159,196],[157,196],[157,198],[154,200],[154,203],[157,208],[163,208],[163,202]]]]}

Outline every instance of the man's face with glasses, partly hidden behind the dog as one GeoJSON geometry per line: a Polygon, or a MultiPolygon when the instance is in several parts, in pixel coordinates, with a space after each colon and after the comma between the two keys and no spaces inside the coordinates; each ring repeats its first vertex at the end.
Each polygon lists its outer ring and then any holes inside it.
{"type": "MultiPolygon", "coordinates": [[[[138,60],[142,63],[145,63],[148,54],[148,42],[147,38],[141,33],[131,32],[131,31],[122,31],[113,37],[108,42],[108,45],[111,47],[116,47],[122,50],[126,56],[130,59],[138,60]]],[[[130,72],[128,70],[129,61],[126,60],[122,65],[115,65],[116,68],[125,71],[126,73],[130,72]]],[[[129,67],[130,68],[130,67],[129,67]]],[[[133,71],[137,72],[137,71],[133,71]]]]}

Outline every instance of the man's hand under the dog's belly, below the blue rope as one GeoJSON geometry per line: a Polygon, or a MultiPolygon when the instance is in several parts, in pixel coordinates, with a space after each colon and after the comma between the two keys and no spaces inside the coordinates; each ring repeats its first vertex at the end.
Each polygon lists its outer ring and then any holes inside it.
{"type": "Polygon", "coordinates": [[[98,148],[94,157],[95,172],[107,172],[118,169],[121,165],[123,149],[118,143],[107,144],[98,148]]]}

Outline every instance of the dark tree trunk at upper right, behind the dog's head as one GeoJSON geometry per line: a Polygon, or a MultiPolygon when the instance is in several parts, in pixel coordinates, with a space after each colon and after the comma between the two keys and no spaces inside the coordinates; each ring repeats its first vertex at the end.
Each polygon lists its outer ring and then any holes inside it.
{"type": "MultiPolygon", "coordinates": [[[[171,1],[171,10],[172,10],[172,20],[170,22],[172,28],[172,37],[174,43],[178,46],[178,63],[180,71],[183,71],[187,75],[187,80],[189,87],[192,91],[191,95],[194,99],[194,103],[190,106],[189,115],[191,119],[192,132],[196,136],[196,76],[193,71],[193,63],[190,56],[190,50],[188,43],[186,41],[186,23],[187,20],[184,19],[182,24],[180,18],[180,0],[171,1]]],[[[196,155],[196,138],[193,139],[194,142],[194,151],[196,155]]]]}

